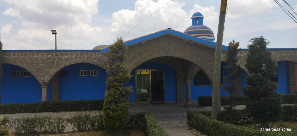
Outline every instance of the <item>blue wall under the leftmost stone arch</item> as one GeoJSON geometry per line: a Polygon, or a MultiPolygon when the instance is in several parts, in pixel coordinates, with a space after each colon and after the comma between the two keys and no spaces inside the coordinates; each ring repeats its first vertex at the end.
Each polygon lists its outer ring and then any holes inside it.
{"type": "Polygon", "coordinates": [[[37,79],[23,77],[22,67],[12,64],[2,64],[1,103],[35,103],[41,102],[41,86],[37,79]],[[12,77],[12,71],[20,71],[20,77],[12,77]]]}

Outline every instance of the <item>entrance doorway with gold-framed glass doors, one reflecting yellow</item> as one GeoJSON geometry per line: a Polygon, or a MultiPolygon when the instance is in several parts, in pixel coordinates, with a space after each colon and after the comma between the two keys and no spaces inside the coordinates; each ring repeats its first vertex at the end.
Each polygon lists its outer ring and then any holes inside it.
{"type": "Polygon", "coordinates": [[[164,103],[164,71],[158,69],[136,70],[136,102],[164,103]]]}

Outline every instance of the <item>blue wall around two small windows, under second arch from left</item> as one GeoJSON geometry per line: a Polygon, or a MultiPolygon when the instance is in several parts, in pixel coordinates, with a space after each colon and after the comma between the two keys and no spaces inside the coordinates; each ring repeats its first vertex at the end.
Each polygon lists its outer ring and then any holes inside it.
{"type": "Polygon", "coordinates": [[[60,100],[103,100],[105,95],[106,71],[89,63],[77,63],[65,67],[68,75],[60,77],[60,100]],[[97,76],[90,70],[97,69],[97,76]],[[88,76],[80,76],[79,70],[88,70],[88,76]]]}

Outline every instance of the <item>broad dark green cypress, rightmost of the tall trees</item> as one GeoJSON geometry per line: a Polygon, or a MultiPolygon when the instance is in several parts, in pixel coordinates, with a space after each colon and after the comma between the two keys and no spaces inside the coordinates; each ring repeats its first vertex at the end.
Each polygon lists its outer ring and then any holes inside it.
{"type": "Polygon", "coordinates": [[[249,75],[244,93],[250,101],[246,108],[260,121],[261,127],[270,127],[268,122],[281,116],[281,96],[275,93],[278,83],[271,80],[277,76],[277,63],[271,59],[271,52],[266,50],[268,41],[262,36],[252,38],[248,45],[246,65],[249,75]]]}

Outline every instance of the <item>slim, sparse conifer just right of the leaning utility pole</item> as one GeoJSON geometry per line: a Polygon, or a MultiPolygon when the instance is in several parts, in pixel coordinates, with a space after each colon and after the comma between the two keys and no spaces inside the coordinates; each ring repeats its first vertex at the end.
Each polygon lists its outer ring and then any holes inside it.
{"type": "Polygon", "coordinates": [[[225,63],[227,64],[225,66],[225,69],[229,72],[229,74],[224,77],[224,80],[228,83],[228,85],[224,86],[224,90],[229,91],[228,102],[230,103],[230,106],[224,106],[224,109],[230,115],[229,116],[230,123],[233,123],[233,117],[234,117],[233,107],[237,105],[236,101],[234,101],[236,82],[233,79],[237,72],[237,65],[236,65],[236,62],[238,61],[237,54],[240,51],[240,48],[238,48],[238,46],[239,46],[239,42],[235,42],[234,40],[232,40],[232,42],[228,44],[228,51],[225,58],[225,63]]]}

